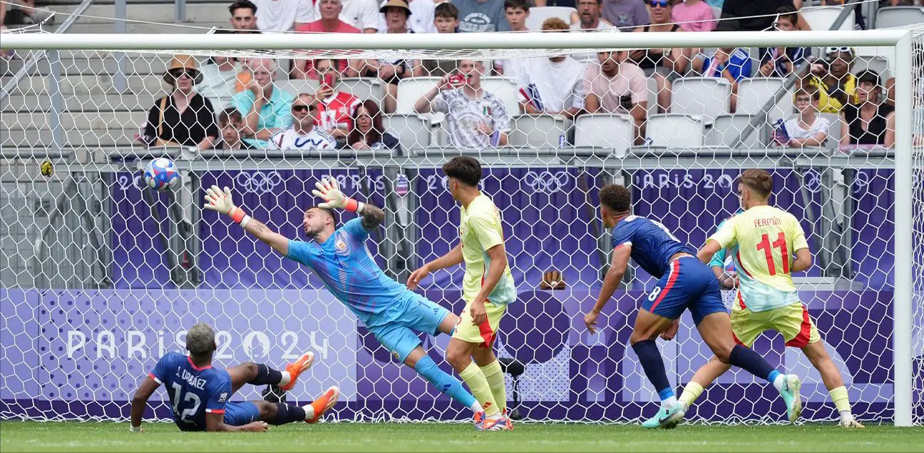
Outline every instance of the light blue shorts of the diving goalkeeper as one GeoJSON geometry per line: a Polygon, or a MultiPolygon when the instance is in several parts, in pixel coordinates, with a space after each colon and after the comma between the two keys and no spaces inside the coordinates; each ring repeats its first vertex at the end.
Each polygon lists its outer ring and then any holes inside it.
{"type": "Polygon", "coordinates": [[[443,307],[410,293],[384,312],[372,315],[364,324],[395,359],[404,362],[410,351],[420,346],[417,333],[439,335],[440,324],[448,315],[449,311],[443,307]]]}

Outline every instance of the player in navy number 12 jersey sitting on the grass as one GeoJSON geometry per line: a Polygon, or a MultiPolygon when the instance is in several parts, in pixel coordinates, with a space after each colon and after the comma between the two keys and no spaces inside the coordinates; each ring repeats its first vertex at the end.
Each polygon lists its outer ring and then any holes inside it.
{"type": "Polygon", "coordinates": [[[213,368],[212,356],[217,349],[215,333],[208,324],[193,325],[186,334],[189,355],[168,352],[157,361],[154,370],[141,381],[131,399],[131,431],[141,431],[141,417],[148,399],[162,384],[167,388],[174,422],[180,431],[266,431],[269,424],[317,422],[325,410],[334,407],[340,390],[327,389],[311,404],[298,407],[268,401],[232,401],[228,398],[244,384],[295,386],[298,375],[314,361],[310,352],[286,365],[280,372],[262,363],[241,363],[221,370],[213,368]]]}

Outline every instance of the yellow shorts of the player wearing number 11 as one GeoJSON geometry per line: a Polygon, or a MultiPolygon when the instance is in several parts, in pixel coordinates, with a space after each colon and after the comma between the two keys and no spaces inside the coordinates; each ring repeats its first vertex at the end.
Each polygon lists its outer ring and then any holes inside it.
{"type": "Polygon", "coordinates": [[[750,348],[754,340],[768,330],[782,334],[786,346],[791,348],[805,348],[809,343],[821,341],[802,302],[764,312],[751,312],[737,303],[732,305],[732,333],[737,343],[750,348]]]}

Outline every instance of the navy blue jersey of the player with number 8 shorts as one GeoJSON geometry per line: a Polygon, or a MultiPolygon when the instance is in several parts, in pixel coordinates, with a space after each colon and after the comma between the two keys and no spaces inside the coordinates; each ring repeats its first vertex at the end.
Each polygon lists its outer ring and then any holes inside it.
{"type": "Polygon", "coordinates": [[[645,272],[661,278],[678,251],[696,256],[692,247],[676,239],[660,222],[638,215],[629,215],[613,227],[613,248],[632,247],[632,260],[645,272]]]}

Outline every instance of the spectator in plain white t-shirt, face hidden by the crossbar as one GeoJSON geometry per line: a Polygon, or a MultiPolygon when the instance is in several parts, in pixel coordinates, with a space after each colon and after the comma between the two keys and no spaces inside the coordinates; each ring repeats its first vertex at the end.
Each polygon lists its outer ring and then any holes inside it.
{"type": "MultiPolygon", "coordinates": [[[[542,31],[569,31],[561,18],[547,18],[542,31]]],[[[584,67],[570,56],[540,56],[524,61],[517,75],[520,109],[530,115],[573,119],[584,107],[584,67]]]]}

